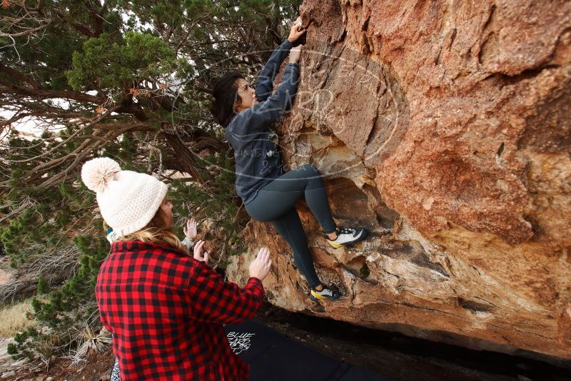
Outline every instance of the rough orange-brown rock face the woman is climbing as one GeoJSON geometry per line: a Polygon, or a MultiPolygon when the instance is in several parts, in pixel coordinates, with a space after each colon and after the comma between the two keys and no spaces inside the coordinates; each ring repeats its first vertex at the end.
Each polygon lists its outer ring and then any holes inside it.
{"type": "Polygon", "coordinates": [[[338,224],[371,237],[332,250],[300,204],[318,274],[345,295],[320,304],[270,225],[248,243],[270,246],[283,308],[571,359],[571,2],[476,3],[304,2],[283,157],[318,167],[338,224]]]}

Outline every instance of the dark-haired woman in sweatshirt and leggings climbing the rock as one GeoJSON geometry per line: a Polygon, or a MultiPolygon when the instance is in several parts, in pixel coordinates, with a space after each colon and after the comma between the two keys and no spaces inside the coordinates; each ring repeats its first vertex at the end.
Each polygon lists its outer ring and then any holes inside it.
{"type": "Polygon", "coordinates": [[[308,280],[312,299],[337,299],[340,293],[320,282],[308,240],[303,231],[295,203],[303,196],[333,248],[363,240],[363,228],[338,228],[331,216],[327,193],[319,171],[310,165],[283,171],[278,139],[273,127],[291,107],[298,88],[301,46],[293,45],[305,33],[300,19],[290,30],[288,39],[273,51],[264,66],[256,88],[241,73],[231,73],[218,80],[213,88],[211,107],[218,123],[226,128],[225,136],[236,158],[236,191],[251,218],[271,222],[293,249],[295,264],[308,280]],[[282,61],[289,54],[281,84],[276,93],[273,80],[282,61]]]}

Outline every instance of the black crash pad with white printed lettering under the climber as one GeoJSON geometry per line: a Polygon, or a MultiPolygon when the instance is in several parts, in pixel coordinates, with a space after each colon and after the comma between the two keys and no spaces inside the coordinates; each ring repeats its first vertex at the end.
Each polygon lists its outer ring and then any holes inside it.
{"type": "Polygon", "coordinates": [[[254,320],[225,327],[232,350],[250,366],[251,381],[391,381],[335,360],[254,320]]]}

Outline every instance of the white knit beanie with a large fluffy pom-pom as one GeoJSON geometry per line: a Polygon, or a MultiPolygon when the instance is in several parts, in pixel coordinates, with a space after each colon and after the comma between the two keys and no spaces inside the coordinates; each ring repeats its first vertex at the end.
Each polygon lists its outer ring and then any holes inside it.
{"type": "Polygon", "coordinates": [[[81,168],[81,180],[97,193],[103,220],[119,236],[144,228],[156,214],[167,186],[146,173],[121,171],[111,158],[94,158],[81,168]]]}

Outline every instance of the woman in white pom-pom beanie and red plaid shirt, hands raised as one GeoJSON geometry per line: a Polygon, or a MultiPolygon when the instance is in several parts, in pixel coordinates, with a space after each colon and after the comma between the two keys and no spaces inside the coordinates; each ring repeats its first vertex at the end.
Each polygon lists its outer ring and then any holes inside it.
{"type": "Polygon", "coordinates": [[[120,237],[99,270],[96,298],[121,380],[247,380],[248,365],[233,354],[223,324],[256,315],[268,249],[239,288],[208,265],[203,241],[188,255],[173,232],[166,184],[121,171],[110,158],[88,161],[81,177],[120,237]]]}

